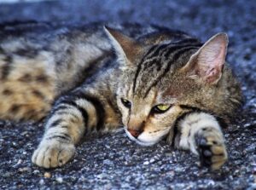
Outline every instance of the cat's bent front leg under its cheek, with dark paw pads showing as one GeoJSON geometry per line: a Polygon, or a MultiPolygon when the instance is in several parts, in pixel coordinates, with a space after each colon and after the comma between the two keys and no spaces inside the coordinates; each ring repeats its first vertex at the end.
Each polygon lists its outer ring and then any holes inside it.
{"type": "Polygon", "coordinates": [[[219,169],[227,160],[224,136],[216,118],[204,112],[186,115],[178,124],[175,146],[198,154],[202,165],[219,169]]]}

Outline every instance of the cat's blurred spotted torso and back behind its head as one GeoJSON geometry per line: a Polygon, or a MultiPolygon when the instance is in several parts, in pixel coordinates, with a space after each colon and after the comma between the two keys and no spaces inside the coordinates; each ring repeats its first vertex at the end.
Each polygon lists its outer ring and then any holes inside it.
{"type": "MultiPolygon", "coordinates": [[[[108,26],[148,45],[188,37],[159,26],[108,26]]],[[[57,95],[95,75],[113,57],[102,23],[0,25],[0,118],[43,118],[57,95]]]]}

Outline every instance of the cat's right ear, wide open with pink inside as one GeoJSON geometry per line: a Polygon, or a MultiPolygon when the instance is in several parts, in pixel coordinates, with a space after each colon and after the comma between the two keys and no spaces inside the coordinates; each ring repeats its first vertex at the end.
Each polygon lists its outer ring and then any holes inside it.
{"type": "Polygon", "coordinates": [[[182,70],[191,78],[200,78],[205,83],[218,83],[224,68],[227,46],[227,34],[216,34],[190,57],[182,70]]]}

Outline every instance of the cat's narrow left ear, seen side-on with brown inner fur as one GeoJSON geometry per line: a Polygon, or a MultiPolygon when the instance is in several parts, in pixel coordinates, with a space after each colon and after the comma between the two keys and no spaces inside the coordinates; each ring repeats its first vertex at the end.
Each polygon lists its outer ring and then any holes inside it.
{"type": "Polygon", "coordinates": [[[104,26],[104,30],[113,45],[113,49],[119,61],[132,65],[137,59],[137,55],[139,55],[142,50],[141,44],[108,26],[104,26]]]}

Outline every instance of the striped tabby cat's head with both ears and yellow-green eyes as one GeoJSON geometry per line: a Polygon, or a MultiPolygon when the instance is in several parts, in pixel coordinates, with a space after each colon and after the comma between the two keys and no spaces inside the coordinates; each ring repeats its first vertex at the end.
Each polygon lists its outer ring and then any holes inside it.
{"type": "Polygon", "coordinates": [[[172,35],[166,34],[135,40],[110,28],[106,32],[122,67],[117,103],[131,140],[145,146],[167,134],[171,140],[173,125],[184,112],[221,112],[228,107],[218,106],[229,96],[222,90],[227,86],[222,78],[231,78],[223,76],[228,70],[226,34],[201,44],[189,37],[172,42],[172,35]]]}

